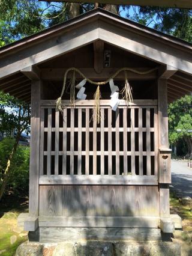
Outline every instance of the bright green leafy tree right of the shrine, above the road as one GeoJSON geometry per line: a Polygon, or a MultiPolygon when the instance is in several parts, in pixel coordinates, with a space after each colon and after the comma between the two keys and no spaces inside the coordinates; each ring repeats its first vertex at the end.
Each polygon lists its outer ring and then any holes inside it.
{"type": "Polygon", "coordinates": [[[187,157],[192,157],[192,96],[185,96],[169,105],[169,141],[177,145],[183,139],[187,157]]]}

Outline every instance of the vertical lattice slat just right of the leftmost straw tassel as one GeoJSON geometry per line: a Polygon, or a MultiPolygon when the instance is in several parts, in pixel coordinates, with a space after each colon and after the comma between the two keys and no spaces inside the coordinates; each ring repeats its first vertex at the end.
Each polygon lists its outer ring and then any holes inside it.
{"type": "Polygon", "coordinates": [[[67,163],[67,109],[64,108],[63,114],[63,136],[62,136],[62,175],[66,175],[66,163],[67,163]]]}

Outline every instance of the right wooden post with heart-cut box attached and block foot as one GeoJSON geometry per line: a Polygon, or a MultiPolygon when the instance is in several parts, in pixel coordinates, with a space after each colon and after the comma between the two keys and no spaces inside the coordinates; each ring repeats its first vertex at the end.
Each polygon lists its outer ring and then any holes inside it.
{"type": "Polygon", "coordinates": [[[168,115],[167,115],[167,79],[158,79],[158,135],[159,135],[159,161],[158,183],[160,190],[160,219],[161,230],[172,233],[174,226],[170,218],[169,183],[170,166],[164,168],[164,163],[170,162],[168,140],[168,115]],[[169,153],[169,154],[167,154],[169,153]],[[168,221],[167,221],[168,219],[168,221]]]}

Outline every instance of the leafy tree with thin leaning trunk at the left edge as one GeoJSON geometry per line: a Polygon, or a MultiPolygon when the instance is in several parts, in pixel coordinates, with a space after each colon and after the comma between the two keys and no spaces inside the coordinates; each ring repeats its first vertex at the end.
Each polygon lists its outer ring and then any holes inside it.
{"type": "Polygon", "coordinates": [[[7,186],[8,176],[11,171],[11,162],[16,153],[20,135],[24,130],[27,133],[29,132],[29,118],[30,108],[28,104],[14,99],[14,97],[9,96],[9,94],[0,92],[0,132],[11,134],[13,130],[17,131],[13,148],[8,155],[7,163],[2,174],[0,201],[7,186]]]}

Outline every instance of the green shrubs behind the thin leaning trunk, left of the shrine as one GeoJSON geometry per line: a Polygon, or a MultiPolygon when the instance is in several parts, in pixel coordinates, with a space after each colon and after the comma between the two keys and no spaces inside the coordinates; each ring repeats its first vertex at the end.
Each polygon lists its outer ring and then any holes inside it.
{"type": "MultiPolygon", "coordinates": [[[[8,157],[14,145],[14,139],[5,138],[0,141],[0,187],[7,165],[8,157]]],[[[18,146],[10,166],[7,194],[28,191],[29,184],[29,147],[18,146]]]]}

